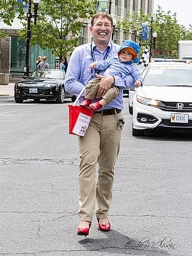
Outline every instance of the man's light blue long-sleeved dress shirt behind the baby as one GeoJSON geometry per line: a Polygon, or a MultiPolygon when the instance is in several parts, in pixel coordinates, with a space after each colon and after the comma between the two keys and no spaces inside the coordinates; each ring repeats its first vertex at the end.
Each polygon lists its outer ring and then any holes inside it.
{"type": "MultiPolygon", "coordinates": [[[[68,62],[67,74],[65,77],[65,90],[76,96],[79,95],[88,81],[95,77],[94,69],[89,67],[90,63],[93,61],[104,60],[106,55],[107,58],[115,56],[119,47],[120,45],[109,42],[104,52],[100,52],[94,41],[76,47],[68,62]]],[[[99,75],[102,74],[104,74],[104,71],[99,72],[99,75]]],[[[123,88],[134,86],[134,79],[132,76],[124,78],[115,76],[115,86],[120,86],[120,93],[108,105],[102,107],[102,110],[111,108],[123,109],[123,88]]],[[[79,102],[83,100],[84,97],[81,97],[79,102]]],[[[98,99],[95,101],[98,101],[98,99]]]]}

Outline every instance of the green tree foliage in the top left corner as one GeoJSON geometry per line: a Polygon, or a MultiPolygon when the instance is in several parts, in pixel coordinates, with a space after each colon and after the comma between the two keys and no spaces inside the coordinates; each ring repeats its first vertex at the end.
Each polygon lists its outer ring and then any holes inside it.
{"type": "MultiPolygon", "coordinates": [[[[7,25],[11,26],[15,18],[16,11],[22,13],[22,4],[17,0],[1,0],[0,1],[0,19],[7,25]]],[[[4,38],[6,34],[0,31],[0,38],[4,38]]]]}

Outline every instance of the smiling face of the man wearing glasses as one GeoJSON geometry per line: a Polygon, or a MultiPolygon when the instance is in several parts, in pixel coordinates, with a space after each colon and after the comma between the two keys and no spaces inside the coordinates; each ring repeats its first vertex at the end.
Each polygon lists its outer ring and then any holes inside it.
{"type": "Polygon", "coordinates": [[[95,43],[97,42],[109,42],[113,33],[111,21],[108,18],[98,17],[93,20],[93,26],[90,27],[90,32],[93,35],[95,43]]]}

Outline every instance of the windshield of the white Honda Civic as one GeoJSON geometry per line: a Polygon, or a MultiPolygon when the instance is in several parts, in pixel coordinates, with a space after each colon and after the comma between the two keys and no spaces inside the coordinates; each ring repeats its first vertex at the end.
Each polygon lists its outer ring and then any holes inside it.
{"type": "Polygon", "coordinates": [[[192,86],[192,66],[150,67],[143,80],[145,86],[192,86]]]}

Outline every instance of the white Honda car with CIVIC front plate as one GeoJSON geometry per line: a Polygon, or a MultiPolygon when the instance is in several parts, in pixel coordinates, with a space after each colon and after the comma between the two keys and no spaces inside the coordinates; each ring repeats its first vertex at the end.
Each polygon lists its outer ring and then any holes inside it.
{"type": "Polygon", "coordinates": [[[162,62],[142,72],[133,99],[132,135],[148,129],[192,131],[192,65],[162,62]]]}

